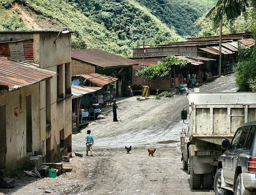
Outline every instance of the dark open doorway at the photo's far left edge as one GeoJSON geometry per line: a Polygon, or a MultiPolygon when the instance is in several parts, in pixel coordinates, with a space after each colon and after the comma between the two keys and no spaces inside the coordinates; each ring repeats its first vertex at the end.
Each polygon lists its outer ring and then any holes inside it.
{"type": "Polygon", "coordinates": [[[6,156],[6,115],[5,105],[0,107],[0,169],[5,168],[5,156],[6,156]]]}

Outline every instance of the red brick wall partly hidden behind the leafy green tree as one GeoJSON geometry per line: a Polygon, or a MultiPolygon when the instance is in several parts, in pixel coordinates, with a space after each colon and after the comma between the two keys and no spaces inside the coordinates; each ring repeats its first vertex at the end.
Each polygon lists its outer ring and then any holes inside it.
{"type": "MultiPolygon", "coordinates": [[[[132,84],[142,85],[142,77],[136,76],[135,73],[137,70],[140,70],[140,66],[142,65],[143,59],[139,58],[132,58],[132,60],[135,60],[139,62],[139,65],[133,65],[132,66],[132,84]]],[[[144,58],[144,65],[156,65],[157,61],[162,62],[162,57],[152,57],[152,58],[144,58]]],[[[153,88],[170,88],[171,86],[171,79],[165,79],[163,77],[157,77],[154,81],[144,81],[144,85],[151,85],[153,88]]]]}

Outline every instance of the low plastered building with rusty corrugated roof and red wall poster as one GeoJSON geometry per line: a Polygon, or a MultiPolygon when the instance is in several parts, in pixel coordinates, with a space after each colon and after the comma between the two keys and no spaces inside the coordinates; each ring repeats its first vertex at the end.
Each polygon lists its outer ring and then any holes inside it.
{"type": "MultiPolygon", "coordinates": [[[[45,130],[40,126],[41,105],[46,94],[41,86],[56,77],[55,72],[32,68],[0,57],[0,175],[22,168],[27,154],[43,154],[45,130]],[[41,91],[40,91],[41,90],[41,91]]],[[[48,92],[49,93],[49,92],[48,92]]]]}

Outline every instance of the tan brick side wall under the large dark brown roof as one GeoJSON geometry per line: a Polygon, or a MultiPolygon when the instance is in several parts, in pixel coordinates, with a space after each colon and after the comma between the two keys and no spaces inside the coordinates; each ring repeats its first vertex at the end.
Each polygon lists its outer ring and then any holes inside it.
{"type": "Polygon", "coordinates": [[[95,66],[79,60],[72,59],[71,75],[95,73],[95,66]]]}

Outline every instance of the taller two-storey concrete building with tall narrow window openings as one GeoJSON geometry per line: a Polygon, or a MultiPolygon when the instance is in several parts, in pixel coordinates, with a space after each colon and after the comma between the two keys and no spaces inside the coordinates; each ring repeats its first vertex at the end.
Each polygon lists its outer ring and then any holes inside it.
{"type": "Polygon", "coordinates": [[[37,137],[33,146],[37,147],[30,150],[38,150],[44,162],[57,162],[61,156],[69,155],[72,151],[72,32],[63,33],[64,30],[0,32],[1,56],[57,73],[52,79],[43,80],[38,84],[40,91],[37,93],[37,104],[40,117],[32,121],[39,125],[37,131],[40,133],[32,132],[32,137],[37,137]]]}

